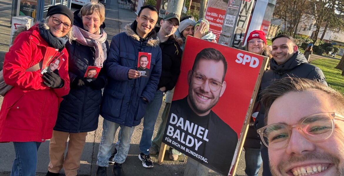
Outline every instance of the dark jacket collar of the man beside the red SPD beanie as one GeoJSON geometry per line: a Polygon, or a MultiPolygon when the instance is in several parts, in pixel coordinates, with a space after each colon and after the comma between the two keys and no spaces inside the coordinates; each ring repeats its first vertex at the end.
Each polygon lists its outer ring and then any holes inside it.
{"type": "Polygon", "coordinates": [[[286,63],[279,65],[274,59],[270,61],[270,68],[278,74],[283,74],[294,69],[302,63],[307,63],[307,59],[298,51],[286,63]]]}

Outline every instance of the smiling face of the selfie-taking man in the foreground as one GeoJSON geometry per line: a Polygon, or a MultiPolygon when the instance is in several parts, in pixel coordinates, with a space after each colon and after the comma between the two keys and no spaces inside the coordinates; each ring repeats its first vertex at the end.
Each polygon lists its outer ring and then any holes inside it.
{"type": "MultiPolygon", "coordinates": [[[[267,125],[293,125],[305,116],[336,112],[331,102],[329,94],[320,90],[289,92],[273,102],[267,125]]],[[[297,128],[292,128],[285,148],[269,149],[271,173],[274,176],[301,176],[300,173],[313,173],[311,176],[344,175],[343,139],[344,122],[341,120],[335,120],[333,136],[318,142],[307,140],[297,128]]]]}

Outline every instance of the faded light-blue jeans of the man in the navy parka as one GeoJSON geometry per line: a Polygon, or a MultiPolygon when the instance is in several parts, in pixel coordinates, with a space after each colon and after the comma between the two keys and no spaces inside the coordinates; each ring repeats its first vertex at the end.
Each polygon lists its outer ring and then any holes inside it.
{"type": "Polygon", "coordinates": [[[131,135],[135,127],[127,127],[119,125],[115,122],[104,119],[103,121],[103,133],[101,134],[101,140],[98,151],[97,165],[102,167],[109,166],[109,158],[111,155],[111,148],[114,143],[116,131],[118,127],[121,127],[120,140],[117,146],[117,154],[114,161],[116,163],[124,163],[126,161],[129,148],[131,135]]]}

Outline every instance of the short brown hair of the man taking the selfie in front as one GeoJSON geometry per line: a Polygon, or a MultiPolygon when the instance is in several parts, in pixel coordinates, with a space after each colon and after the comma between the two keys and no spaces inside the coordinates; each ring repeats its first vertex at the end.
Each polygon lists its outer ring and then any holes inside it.
{"type": "Polygon", "coordinates": [[[261,103],[266,107],[265,124],[267,124],[270,107],[277,98],[289,92],[302,92],[310,89],[316,89],[327,93],[332,99],[331,102],[334,102],[332,105],[334,105],[338,111],[340,111],[338,113],[344,113],[344,97],[341,93],[316,80],[287,77],[279,80],[273,80],[273,83],[266,87],[265,90],[260,92],[261,103]]]}

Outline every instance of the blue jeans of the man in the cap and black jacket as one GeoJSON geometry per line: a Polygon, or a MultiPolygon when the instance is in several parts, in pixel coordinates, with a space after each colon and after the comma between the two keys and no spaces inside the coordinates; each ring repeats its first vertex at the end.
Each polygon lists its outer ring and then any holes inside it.
{"type": "Polygon", "coordinates": [[[143,117],[143,130],[140,141],[140,152],[145,155],[149,154],[149,148],[152,145],[154,126],[159,115],[163,96],[164,92],[160,90],[155,92],[154,99],[153,101],[148,103],[146,113],[143,117]]]}

